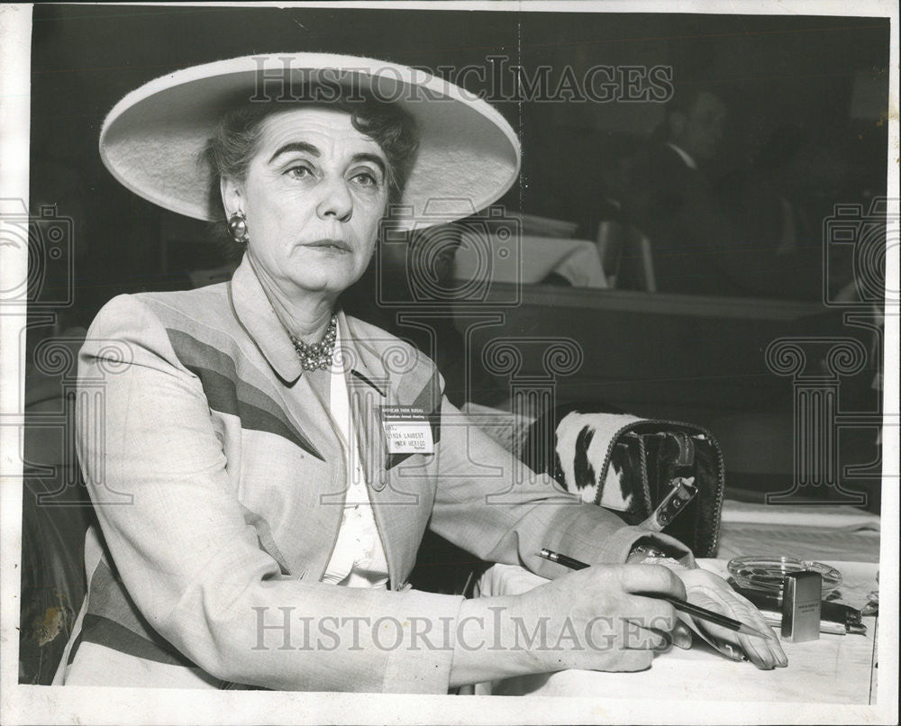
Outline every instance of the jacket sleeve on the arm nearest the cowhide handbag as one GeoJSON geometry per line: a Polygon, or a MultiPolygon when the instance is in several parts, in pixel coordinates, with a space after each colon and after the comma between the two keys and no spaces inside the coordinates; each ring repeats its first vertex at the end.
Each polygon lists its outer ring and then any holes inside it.
{"type": "Polygon", "coordinates": [[[614,513],[570,495],[551,476],[532,472],[446,398],[438,455],[430,526],[479,558],[553,578],[569,570],[538,557],[542,548],[612,564],[623,563],[638,540],[648,540],[694,566],[678,540],[627,526],[614,513]]]}

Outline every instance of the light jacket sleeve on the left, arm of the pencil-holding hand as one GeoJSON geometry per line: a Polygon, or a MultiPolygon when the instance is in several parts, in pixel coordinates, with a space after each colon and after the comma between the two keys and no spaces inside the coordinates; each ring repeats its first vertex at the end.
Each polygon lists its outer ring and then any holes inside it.
{"type": "Polygon", "coordinates": [[[238,464],[200,382],[146,304],[105,306],[78,374],[86,485],[123,584],[163,638],[234,683],[447,692],[452,644],[439,636],[453,631],[461,598],[282,575],[244,521],[226,473],[238,464]]]}

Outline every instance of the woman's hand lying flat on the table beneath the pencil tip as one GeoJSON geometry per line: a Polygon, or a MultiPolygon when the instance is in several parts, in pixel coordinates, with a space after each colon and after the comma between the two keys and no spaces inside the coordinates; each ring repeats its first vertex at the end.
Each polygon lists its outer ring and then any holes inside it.
{"type": "Polygon", "coordinates": [[[744,635],[720,625],[714,625],[712,622],[695,618],[698,629],[714,640],[730,645],[738,652],[743,652],[751,660],[751,663],[759,668],[769,670],[788,665],[788,658],[779,645],[776,633],[763,620],[760,611],[750,601],[736,593],[722,577],[700,568],[679,569],[674,572],[685,585],[689,603],[712,610],[714,613],[726,615],[772,637],[764,639],[753,635],[744,635]]]}

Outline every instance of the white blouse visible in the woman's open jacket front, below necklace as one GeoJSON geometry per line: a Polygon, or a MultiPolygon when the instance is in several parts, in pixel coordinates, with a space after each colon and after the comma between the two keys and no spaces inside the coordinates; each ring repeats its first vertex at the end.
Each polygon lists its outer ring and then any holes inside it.
{"type": "MultiPolygon", "coordinates": [[[[341,349],[340,329],[335,340],[335,349],[341,349]]],[[[335,358],[339,359],[332,361],[329,406],[344,449],[348,487],[341,529],[338,531],[332,558],[325,568],[323,582],[348,587],[386,587],[388,565],[385,549],[378,535],[366,477],[359,459],[344,367],[341,356],[335,358]]]]}

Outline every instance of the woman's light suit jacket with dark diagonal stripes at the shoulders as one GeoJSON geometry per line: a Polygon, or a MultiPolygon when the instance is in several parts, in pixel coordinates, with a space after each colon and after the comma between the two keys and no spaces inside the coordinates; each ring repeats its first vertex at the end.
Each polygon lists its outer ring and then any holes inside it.
{"type": "Polygon", "coordinates": [[[649,534],[550,477],[515,483],[511,454],[442,400],[431,360],[359,320],[339,327],[389,589],[319,581],[344,503],[340,439],[250,266],[123,295],[79,358],[77,448],[100,529],[57,683],[446,693],[461,599],[405,585],[426,526],[547,577],[566,570],[542,547],[623,562],[649,534]],[[383,405],[423,408],[434,453],[389,454],[383,405]]]}

